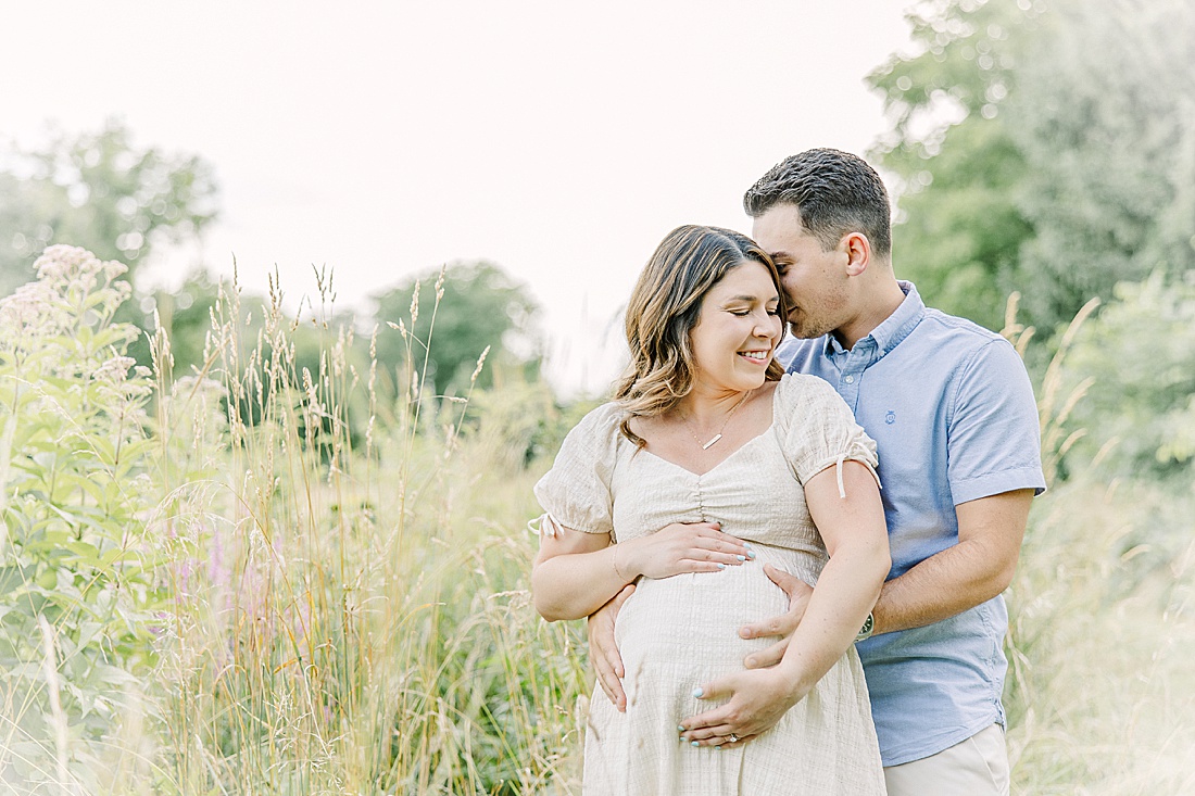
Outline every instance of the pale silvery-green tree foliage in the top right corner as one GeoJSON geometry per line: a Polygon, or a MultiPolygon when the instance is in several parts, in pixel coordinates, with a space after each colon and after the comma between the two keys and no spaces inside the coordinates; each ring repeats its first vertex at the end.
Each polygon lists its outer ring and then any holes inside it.
{"type": "Polygon", "coordinates": [[[1009,123],[1036,234],[1021,286],[1034,323],[1154,270],[1195,270],[1195,5],[1058,2],[1009,123]]]}

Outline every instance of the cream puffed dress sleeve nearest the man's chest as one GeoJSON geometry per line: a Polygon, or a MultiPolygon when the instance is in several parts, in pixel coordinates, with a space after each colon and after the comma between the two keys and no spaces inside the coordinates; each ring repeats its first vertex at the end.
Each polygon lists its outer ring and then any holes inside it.
{"type": "Polygon", "coordinates": [[[789,373],[776,390],[776,428],[798,482],[804,484],[822,470],[835,466],[839,495],[845,497],[842,463],[859,461],[878,483],[875,440],[854,422],[851,409],[828,382],[813,375],[789,373]]]}

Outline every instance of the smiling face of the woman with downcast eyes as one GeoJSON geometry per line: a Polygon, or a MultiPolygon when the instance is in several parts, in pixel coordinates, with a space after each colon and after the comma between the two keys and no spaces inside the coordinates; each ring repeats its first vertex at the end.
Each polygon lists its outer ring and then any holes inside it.
{"type": "Polygon", "coordinates": [[[767,268],[753,259],[710,288],[690,332],[694,385],[734,391],[762,385],[783,333],[778,304],[767,268]]]}

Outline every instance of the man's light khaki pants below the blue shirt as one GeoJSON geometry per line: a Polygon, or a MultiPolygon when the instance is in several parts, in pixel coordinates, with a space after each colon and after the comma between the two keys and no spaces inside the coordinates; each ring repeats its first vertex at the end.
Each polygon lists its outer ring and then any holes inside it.
{"type": "Polygon", "coordinates": [[[992,724],[921,760],[884,769],[888,796],[1009,796],[1004,728],[992,724]]]}

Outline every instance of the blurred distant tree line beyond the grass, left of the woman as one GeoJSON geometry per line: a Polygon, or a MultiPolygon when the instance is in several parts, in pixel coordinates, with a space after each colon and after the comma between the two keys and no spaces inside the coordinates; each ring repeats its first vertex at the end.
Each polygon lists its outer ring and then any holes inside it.
{"type": "MultiPolygon", "coordinates": [[[[155,252],[195,243],[203,235],[217,218],[217,198],[210,164],[197,155],[139,148],[118,121],[75,136],[54,131],[38,149],[12,147],[0,158],[0,295],[32,280],[33,261],[57,243],[125,263],[128,278],[137,287],[143,281],[137,278],[137,271],[153,262],[155,252]]],[[[541,354],[534,333],[538,307],[525,287],[495,263],[454,263],[445,269],[443,292],[437,300],[433,288],[437,275],[435,269],[378,293],[372,317],[360,322],[343,312],[321,313],[320,322],[329,329],[356,325],[362,332],[368,332],[374,320],[382,324],[376,354],[381,381],[392,391],[397,390],[406,350],[400,335],[385,322],[403,317],[419,349],[415,359],[427,371],[421,375],[425,386],[436,392],[451,393],[467,385],[486,348],[488,367],[477,378],[483,388],[492,384],[495,373],[534,379],[541,354]],[[416,286],[423,314],[412,324],[410,307],[416,286]],[[435,342],[424,350],[433,317],[435,342]],[[424,354],[427,368],[422,365],[424,354]]],[[[173,373],[201,372],[210,310],[217,295],[217,281],[197,269],[185,275],[177,288],[137,290],[122,307],[120,320],[149,333],[160,322],[171,337],[173,373]]],[[[265,317],[265,299],[245,296],[243,306],[250,323],[259,326],[265,317]]],[[[143,333],[130,350],[142,365],[149,365],[149,333],[143,333]]],[[[244,335],[246,339],[255,336],[253,330],[244,335]]],[[[349,354],[358,365],[368,362],[368,337],[358,333],[349,354]]],[[[299,362],[318,373],[319,329],[305,324],[298,339],[299,362]]]]}

